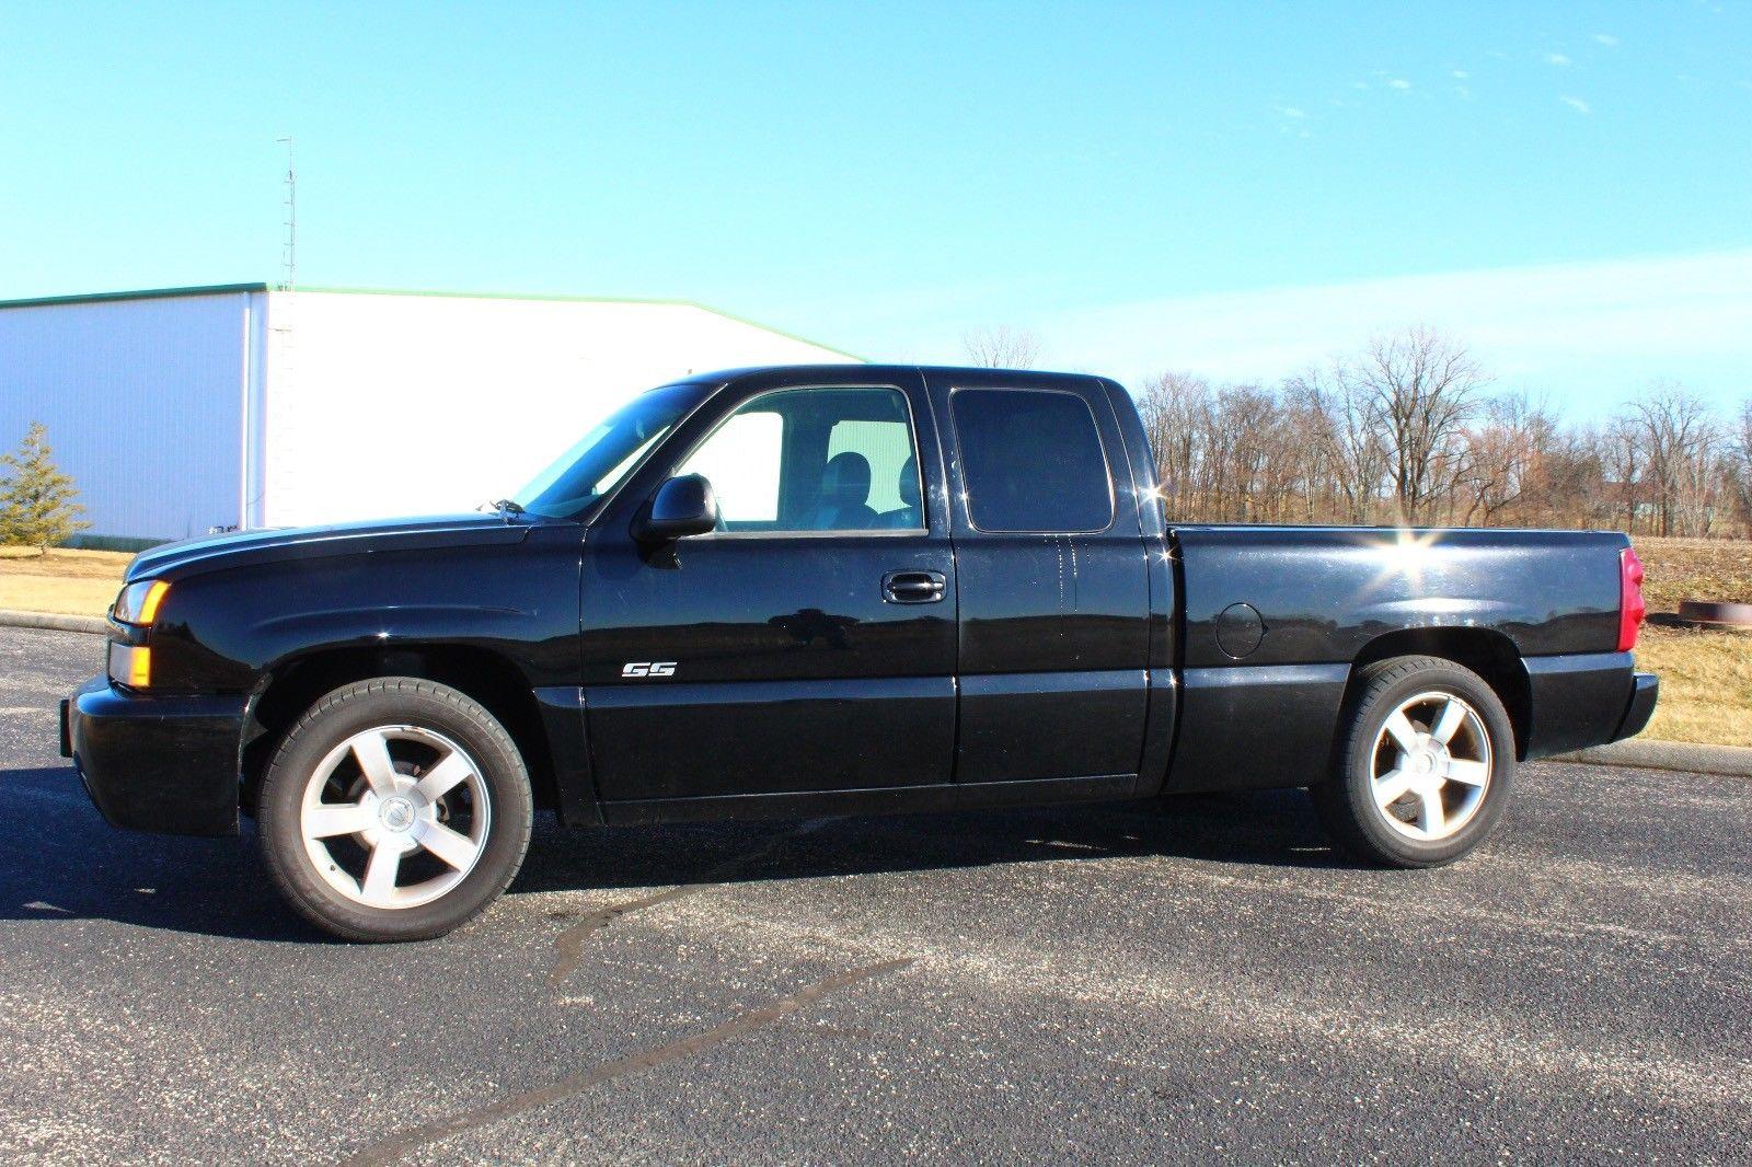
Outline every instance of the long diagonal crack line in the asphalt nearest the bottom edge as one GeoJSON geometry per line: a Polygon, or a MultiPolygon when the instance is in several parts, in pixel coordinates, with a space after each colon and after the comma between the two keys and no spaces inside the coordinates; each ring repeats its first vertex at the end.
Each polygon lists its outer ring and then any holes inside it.
{"type": "Polygon", "coordinates": [[[466,1130],[491,1127],[492,1123],[512,1118],[513,1114],[552,1106],[554,1102],[564,1102],[566,1099],[571,1099],[604,1081],[624,1078],[625,1074],[636,1074],[643,1069],[666,1065],[669,1062],[680,1062],[682,1058],[697,1057],[715,1046],[722,1046],[725,1041],[741,1037],[743,1034],[757,1030],[764,1025],[771,1025],[773,1022],[797,1013],[799,1009],[806,1009],[829,994],[851,988],[853,985],[878,976],[887,976],[888,972],[899,972],[906,965],[913,964],[913,960],[915,957],[895,957],[894,960],[883,960],[880,964],[836,972],[816,981],[815,985],[808,985],[787,997],[780,997],[773,1004],[750,1009],[741,1016],[734,1016],[729,1022],[715,1025],[701,1034],[694,1034],[692,1037],[682,1037],[680,1041],[671,1041],[666,1046],[634,1053],[620,1058],[618,1062],[608,1062],[606,1065],[580,1071],[548,1086],[513,1093],[499,1099],[498,1102],[489,1102],[487,1106],[463,1111],[461,1114],[450,1114],[420,1127],[412,1127],[401,1134],[389,1135],[387,1139],[373,1142],[363,1151],[343,1158],[342,1167],[380,1167],[382,1163],[392,1163],[403,1155],[408,1155],[422,1146],[440,1142],[466,1130]]]}

